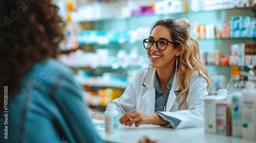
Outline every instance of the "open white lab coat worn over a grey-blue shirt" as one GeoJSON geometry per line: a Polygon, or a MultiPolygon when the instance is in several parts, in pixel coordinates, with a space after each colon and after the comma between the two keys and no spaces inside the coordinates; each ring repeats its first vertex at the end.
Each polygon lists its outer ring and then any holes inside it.
{"type": "MultiPolygon", "coordinates": [[[[119,117],[124,113],[137,110],[145,113],[155,112],[156,90],[154,84],[154,75],[156,69],[150,67],[146,76],[144,86],[142,86],[143,78],[146,75],[147,67],[140,68],[131,83],[124,90],[122,96],[113,100],[111,104],[117,106],[119,117]]],[[[178,75],[178,74],[177,74],[178,75]]],[[[186,101],[182,104],[180,110],[179,105],[184,96],[177,98],[180,92],[178,77],[173,82],[166,105],[166,112],[161,112],[167,116],[175,117],[181,120],[178,128],[186,127],[204,127],[204,98],[207,97],[207,82],[199,76],[197,72],[189,79],[189,91],[186,101]],[[176,83],[176,84],[175,84],[176,83]],[[175,84],[175,85],[174,85],[175,84]],[[173,88],[175,86],[175,88],[173,88]]]]}

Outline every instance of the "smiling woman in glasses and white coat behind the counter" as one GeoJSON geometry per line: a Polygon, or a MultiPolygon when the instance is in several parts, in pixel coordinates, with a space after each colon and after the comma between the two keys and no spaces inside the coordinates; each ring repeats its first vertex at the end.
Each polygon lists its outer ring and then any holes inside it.
{"type": "Polygon", "coordinates": [[[162,19],[143,40],[150,66],[137,71],[117,106],[125,126],[203,127],[204,98],[214,91],[186,19],[162,19]],[[210,91],[210,93],[211,93],[210,91]]]}

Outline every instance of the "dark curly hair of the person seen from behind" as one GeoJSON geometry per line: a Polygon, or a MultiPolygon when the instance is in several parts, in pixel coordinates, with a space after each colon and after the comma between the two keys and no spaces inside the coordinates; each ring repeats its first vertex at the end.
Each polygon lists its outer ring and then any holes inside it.
{"type": "Polygon", "coordinates": [[[64,26],[57,12],[51,0],[0,0],[1,89],[18,92],[35,63],[57,57],[64,26]]]}

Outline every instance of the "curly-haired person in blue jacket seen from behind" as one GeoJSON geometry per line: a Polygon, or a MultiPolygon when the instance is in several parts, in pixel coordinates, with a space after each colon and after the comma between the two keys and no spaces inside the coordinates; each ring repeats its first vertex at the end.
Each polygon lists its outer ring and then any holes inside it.
{"type": "Polygon", "coordinates": [[[50,0],[0,0],[0,86],[9,111],[0,142],[103,142],[73,71],[55,59],[63,39],[57,11],[50,0]]]}

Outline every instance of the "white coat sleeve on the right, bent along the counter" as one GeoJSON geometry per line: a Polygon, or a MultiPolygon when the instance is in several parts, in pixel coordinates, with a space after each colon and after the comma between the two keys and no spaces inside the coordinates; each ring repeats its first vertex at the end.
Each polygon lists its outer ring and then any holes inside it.
{"type": "MultiPolygon", "coordinates": [[[[187,110],[176,112],[159,112],[166,116],[175,117],[181,122],[176,129],[187,127],[204,127],[204,98],[208,96],[207,82],[198,74],[191,78],[186,99],[187,110]]],[[[185,103],[183,103],[185,104],[185,103]]]]}

